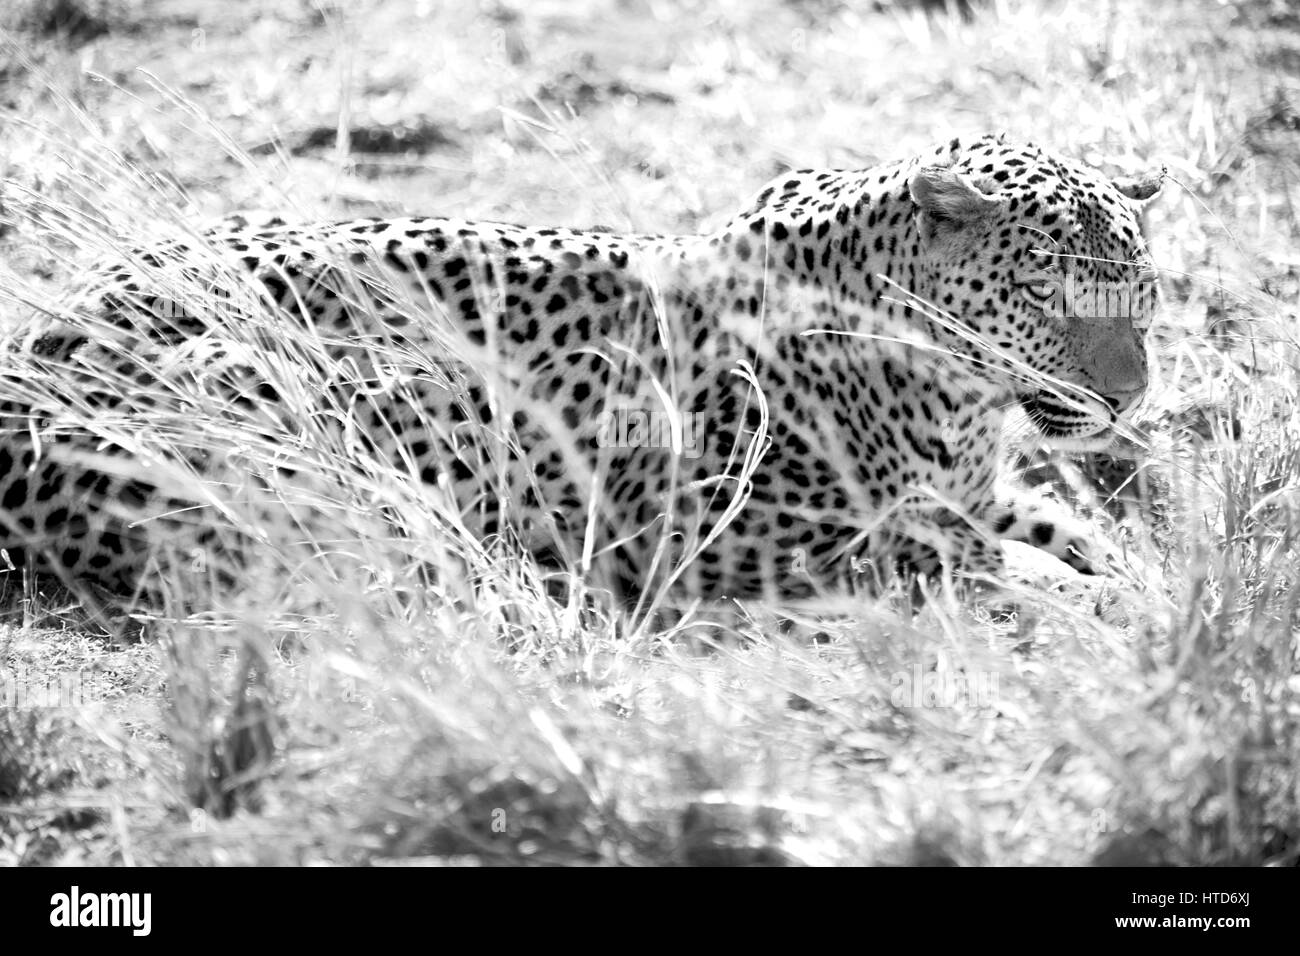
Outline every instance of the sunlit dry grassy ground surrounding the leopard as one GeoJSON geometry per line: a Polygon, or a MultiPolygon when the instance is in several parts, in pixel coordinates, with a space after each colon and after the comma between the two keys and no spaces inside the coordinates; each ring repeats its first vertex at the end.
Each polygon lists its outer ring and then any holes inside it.
{"type": "Polygon", "coordinates": [[[779,172],[988,130],[1171,177],[1149,447],[1030,460],[1075,497],[1121,475],[1097,520],[1128,570],[1030,568],[1009,614],[670,626],[506,558],[421,594],[350,527],[390,587],[269,576],[144,640],[8,575],[0,864],[1300,858],[1288,4],[25,0],[0,27],[6,323],[233,209],[698,230],[779,172]]]}

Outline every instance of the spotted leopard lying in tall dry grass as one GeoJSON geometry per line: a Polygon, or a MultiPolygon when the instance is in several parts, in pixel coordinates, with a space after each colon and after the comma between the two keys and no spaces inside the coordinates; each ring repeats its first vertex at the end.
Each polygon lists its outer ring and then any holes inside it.
{"type": "Polygon", "coordinates": [[[274,441],[299,389],[455,533],[623,600],[996,579],[1004,541],[1092,574],[1082,525],[1004,473],[1006,421],[1082,453],[1123,432],[1164,178],[987,134],[781,173],[689,235],[237,215],[144,243],[6,337],[0,554],[138,589],[194,502],[99,423],[188,420],[198,389],[274,441]],[[277,372],[286,343],[311,347],[277,372]]]}

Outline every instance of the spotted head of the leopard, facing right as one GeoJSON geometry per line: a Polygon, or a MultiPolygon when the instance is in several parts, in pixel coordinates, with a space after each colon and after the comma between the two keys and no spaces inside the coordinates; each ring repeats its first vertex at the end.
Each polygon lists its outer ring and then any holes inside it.
{"type": "Polygon", "coordinates": [[[1104,446],[1147,389],[1158,290],[1139,220],[1164,173],[1113,179],[993,137],[945,159],[909,178],[926,291],[967,329],[944,334],[1044,437],[1104,446]]]}

